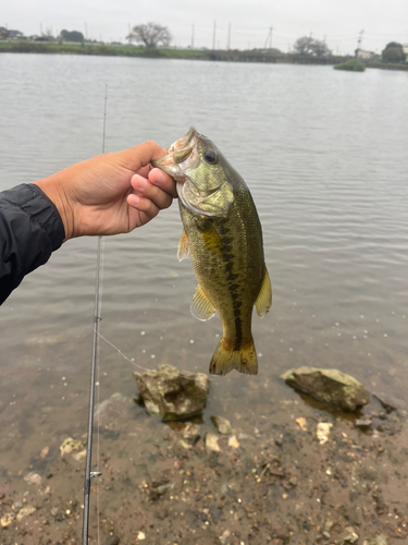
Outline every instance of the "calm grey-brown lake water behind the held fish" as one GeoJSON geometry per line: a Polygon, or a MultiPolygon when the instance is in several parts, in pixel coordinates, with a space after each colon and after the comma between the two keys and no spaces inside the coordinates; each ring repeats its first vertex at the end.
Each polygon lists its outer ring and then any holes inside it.
{"type": "MultiPolygon", "coordinates": [[[[273,415],[296,396],[280,375],[299,365],[336,367],[405,398],[407,72],[1,55],[0,73],[1,190],[101,152],[106,84],[108,152],[147,138],[168,146],[194,124],[247,181],[273,306],[254,317],[259,375],[214,377],[206,420],[243,411],[243,399],[254,425],[273,415]]],[[[100,331],[136,365],[208,373],[221,324],[189,313],[196,280],[176,259],[181,231],[173,206],[104,240],[100,331]]],[[[67,242],[0,308],[9,474],[86,431],[96,247],[91,238],[67,242]]],[[[134,370],[101,341],[100,399],[133,396],[134,370]]]]}

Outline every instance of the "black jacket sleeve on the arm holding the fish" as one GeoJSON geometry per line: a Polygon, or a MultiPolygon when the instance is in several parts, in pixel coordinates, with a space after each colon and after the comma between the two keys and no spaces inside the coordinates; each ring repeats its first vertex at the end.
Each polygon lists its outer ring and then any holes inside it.
{"type": "Polygon", "coordinates": [[[65,232],[52,201],[35,184],[0,192],[0,304],[44,265],[65,232]]]}

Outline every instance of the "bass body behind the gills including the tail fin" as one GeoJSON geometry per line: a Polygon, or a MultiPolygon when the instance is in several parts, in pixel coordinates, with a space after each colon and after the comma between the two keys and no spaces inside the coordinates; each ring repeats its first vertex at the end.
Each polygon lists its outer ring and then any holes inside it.
{"type": "Polygon", "coordinates": [[[236,368],[257,374],[251,316],[264,274],[258,216],[254,219],[236,206],[226,218],[208,218],[181,208],[198,284],[223,325],[210,372],[224,375],[236,368]]]}

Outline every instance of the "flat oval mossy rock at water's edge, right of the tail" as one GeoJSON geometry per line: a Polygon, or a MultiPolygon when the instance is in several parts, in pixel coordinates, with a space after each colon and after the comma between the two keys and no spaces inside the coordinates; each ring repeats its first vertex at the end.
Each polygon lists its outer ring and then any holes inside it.
{"type": "Polygon", "coordinates": [[[337,370],[297,367],[287,371],[282,378],[293,388],[312,398],[353,412],[370,402],[370,393],[356,378],[337,370]]]}

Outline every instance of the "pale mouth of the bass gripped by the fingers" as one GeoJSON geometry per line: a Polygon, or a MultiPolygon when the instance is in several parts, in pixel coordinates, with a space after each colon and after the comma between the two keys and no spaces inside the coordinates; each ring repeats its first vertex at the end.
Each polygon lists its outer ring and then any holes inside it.
{"type": "Polygon", "coordinates": [[[163,170],[175,179],[177,191],[178,183],[183,184],[186,181],[185,170],[194,167],[199,160],[197,154],[198,141],[198,132],[194,126],[190,126],[184,136],[168,147],[169,155],[151,161],[152,167],[163,170]]]}

